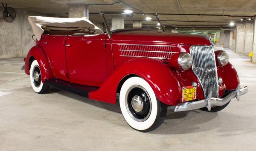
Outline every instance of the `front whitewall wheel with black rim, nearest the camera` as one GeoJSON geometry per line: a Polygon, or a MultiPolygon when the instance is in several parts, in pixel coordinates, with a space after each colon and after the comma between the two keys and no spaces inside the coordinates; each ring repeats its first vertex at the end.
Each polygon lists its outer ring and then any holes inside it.
{"type": "Polygon", "coordinates": [[[126,122],[138,131],[152,131],[166,117],[167,106],[157,100],[153,89],[140,77],[131,77],[124,82],[119,103],[126,122]]]}

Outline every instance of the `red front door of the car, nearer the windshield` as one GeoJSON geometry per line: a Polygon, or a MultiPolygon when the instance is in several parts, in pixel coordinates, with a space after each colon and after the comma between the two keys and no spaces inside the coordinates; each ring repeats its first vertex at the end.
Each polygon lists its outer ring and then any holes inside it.
{"type": "Polygon", "coordinates": [[[68,36],[66,53],[71,83],[99,87],[106,80],[104,34],[68,36]]]}

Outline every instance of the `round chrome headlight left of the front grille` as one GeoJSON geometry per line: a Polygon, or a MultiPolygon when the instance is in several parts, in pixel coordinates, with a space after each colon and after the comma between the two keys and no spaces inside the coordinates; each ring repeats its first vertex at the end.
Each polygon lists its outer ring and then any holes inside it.
{"type": "Polygon", "coordinates": [[[188,70],[192,66],[192,58],[189,53],[180,53],[178,64],[181,69],[188,70]]]}

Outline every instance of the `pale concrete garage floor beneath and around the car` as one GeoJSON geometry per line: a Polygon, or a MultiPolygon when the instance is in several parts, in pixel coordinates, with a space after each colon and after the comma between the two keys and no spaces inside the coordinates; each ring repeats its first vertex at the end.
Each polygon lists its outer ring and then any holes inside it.
{"type": "Polygon", "coordinates": [[[55,89],[36,94],[20,70],[22,58],[0,59],[0,150],[255,150],[256,64],[227,51],[249,93],[218,113],[169,109],[149,133],[131,129],[119,104],[55,89]]]}

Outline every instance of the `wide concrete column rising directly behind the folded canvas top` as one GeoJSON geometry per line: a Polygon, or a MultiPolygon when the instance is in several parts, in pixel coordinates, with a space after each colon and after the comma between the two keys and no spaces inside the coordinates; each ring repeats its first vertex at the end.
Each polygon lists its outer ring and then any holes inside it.
{"type": "Polygon", "coordinates": [[[68,5],[68,17],[69,18],[89,18],[89,10],[85,4],[69,4],[68,5]]]}

